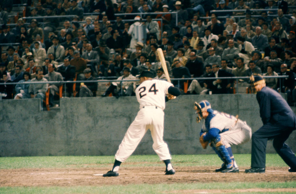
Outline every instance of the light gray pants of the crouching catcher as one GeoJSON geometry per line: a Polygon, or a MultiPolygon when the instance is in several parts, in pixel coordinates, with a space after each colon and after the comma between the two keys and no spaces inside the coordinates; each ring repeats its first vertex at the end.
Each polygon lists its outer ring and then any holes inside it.
{"type": "Polygon", "coordinates": [[[239,145],[250,141],[252,137],[252,129],[245,121],[238,119],[234,127],[221,133],[220,136],[223,145],[225,147],[230,147],[232,144],[239,145]]]}

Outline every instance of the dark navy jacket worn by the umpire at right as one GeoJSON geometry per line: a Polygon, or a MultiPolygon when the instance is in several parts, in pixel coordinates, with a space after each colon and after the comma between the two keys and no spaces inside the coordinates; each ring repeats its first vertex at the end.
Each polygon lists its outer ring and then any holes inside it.
{"type": "Polygon", "coordinates": [[[295,128],[296,116],[279,93],[269,87],[264,87],[257,93],[256,98],[263,124],[270,122],[295,128]]]}

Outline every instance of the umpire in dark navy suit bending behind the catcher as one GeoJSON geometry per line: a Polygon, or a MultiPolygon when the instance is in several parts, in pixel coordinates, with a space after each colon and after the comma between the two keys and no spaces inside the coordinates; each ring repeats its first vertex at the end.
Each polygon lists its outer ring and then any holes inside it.
{"type": "Polygon", "coordinates": [[[266,160],[266,144],[273,139],[273,147],[277,154],[290,167],[289,172],[296,172],[296,156],[285,143],[295,130],[296,116],[288,103],[275,90],[265,86],[260,75],[251,76],[253,89],[260,107],[263,126],[252,135],[251,168],[246,173],[264,173],[266,160]]]}

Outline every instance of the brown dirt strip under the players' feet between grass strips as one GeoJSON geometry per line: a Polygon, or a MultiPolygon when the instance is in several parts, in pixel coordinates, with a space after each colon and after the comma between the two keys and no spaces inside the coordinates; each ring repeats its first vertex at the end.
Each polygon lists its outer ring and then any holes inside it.
{"type": "MultiPolygon", "coordinates": [[[[118,177],[102,177],[107,168],[4,169],[0,185],[4,186],[99,186],[114,184],[210,183],[210,182],[285,182],[295,181],[296,173],[287,167],[267,168],[265,173],[216,173],[215,167],[175,167],[175,175],[164,175],[164,167],[121,167],[118,177]]],[[[296,192],[296,189],[293,190],[296,192]]],[[[228,191],[229,192],[229,191],[228,191]]],[[[266,192],[266,191],[265,191],[266,192]]],[[[286,191],[290,192],[290,191],[286,191]]],[[[184,191],[184,193],[187,193],[184,191]]],[[[188,191],[188,193],[193,193],[188,191]]],[[[198,193],[198,191],[194,191],[198,193]]],[[[223,193],[223,190],[221,190],[223,193]]]]}

